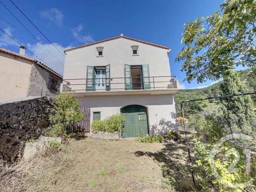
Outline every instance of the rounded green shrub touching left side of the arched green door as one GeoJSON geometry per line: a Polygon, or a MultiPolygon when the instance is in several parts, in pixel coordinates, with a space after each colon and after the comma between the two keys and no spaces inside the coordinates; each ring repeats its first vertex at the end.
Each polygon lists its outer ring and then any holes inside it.
{"type": "Polygon", "coordinates": [[[104,119],[104,124],[106,126],[107,132],[124,132],[124,116],[122,114],[112,115],[104,119]]]}

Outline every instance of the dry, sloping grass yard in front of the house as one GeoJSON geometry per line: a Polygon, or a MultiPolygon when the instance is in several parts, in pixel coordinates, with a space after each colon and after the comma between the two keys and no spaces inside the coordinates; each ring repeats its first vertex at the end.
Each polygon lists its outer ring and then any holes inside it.
{"type": "Polygon", "coordinates": [[[56,154],[37,154],[26,162],[4,168],[0,173],[0,191],[192,191],[187,164],[185,143],[69,139],[56,154]],[[172,180],[177,186],[170,184],[172,180]]]}

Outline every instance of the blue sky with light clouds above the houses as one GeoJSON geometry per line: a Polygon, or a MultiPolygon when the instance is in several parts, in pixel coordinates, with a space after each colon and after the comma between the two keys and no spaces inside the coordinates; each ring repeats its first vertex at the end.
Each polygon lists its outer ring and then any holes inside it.
{"type": "MultiPolygon", "coordinates": [[[[62,73],[61,63],[64,64],[64,57],[26,20],[10,0],[0,1],[60,62],[29,34],[2,4],[0,4],[0,28],[38,56],[37,59],[40,58],[62,73]]],[[[182,63],[174,63],[174,58],[183,47],[180,40],[184,23],[219,10],[223,0],[22,0],[14,2],[61,51],[83,45],[85,42],[104,40],[123,33],[124,36],[170,47],[172,49],[169,55],[171,73],[177,76],[182,88],[201,88],[213,83],[212,81],[203,84],[197,84],[196,81],[191,84],[183,82],[186,73],[180,71],[182,63]]],[[[19,52],[17,43],[2,31],[0,35],[12,51],[19,52]]],[[[2,38],[0,37],[0,47],[9,49],[2,38]]],[[[26,53],[30,55],[29,52],[26,53]]]]}

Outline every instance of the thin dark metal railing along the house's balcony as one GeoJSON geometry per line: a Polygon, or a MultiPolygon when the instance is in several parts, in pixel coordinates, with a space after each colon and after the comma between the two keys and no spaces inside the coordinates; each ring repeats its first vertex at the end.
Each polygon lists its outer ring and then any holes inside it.
{"type": "Polygon", "coordinates": [[[177,89],[178,81],[175,80],[175,78],[176,76],[64,79],[63,90],[67,90],[67,91],[100,91],[102,90],[104,91],[104,90],[177,89]],[[100,88],[99,87],[97,88],[97,86],[99,86],[100,88]]]}

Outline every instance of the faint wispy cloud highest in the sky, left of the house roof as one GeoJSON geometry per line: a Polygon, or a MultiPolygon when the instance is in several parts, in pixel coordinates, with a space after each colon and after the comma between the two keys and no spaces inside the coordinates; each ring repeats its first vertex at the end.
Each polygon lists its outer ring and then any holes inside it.
{"type": "Polygon", "coordinates": [[[62,11],[57,8],[51,8],[50,10],[44,10],[40,12],[42,18],[46,18],[51,22],[55,23],[58,26],[63,24],[64,14],[62,11]]]}

